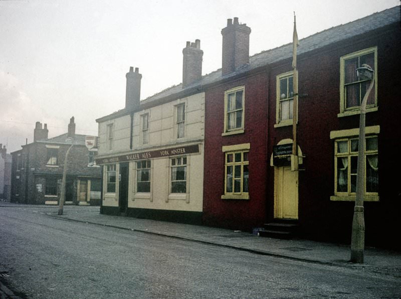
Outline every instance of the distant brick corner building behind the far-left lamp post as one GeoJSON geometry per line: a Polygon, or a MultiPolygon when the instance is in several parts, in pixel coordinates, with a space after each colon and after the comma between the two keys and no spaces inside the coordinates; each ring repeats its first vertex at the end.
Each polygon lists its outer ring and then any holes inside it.
{"type": "Polygon", "coordinates": [[[89,150],[85,135],[75,134],[74,117],[68,132],[48,138],[47,124],[36,122],[34,142],[12,153],[11,201],[25,204],[58,204],[68,148],[66,204],[99,205],[101,169],[94,163],[97,148],[89,150]]]}

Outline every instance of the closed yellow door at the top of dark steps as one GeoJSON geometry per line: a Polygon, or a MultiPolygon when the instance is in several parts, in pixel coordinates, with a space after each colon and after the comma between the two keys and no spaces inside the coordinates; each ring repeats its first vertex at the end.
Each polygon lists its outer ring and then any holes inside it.
{"type": "Polygon", "coordinates": [[[275,168],[274,217],[298,219],[298,172],[291,167],[275,168]]]}

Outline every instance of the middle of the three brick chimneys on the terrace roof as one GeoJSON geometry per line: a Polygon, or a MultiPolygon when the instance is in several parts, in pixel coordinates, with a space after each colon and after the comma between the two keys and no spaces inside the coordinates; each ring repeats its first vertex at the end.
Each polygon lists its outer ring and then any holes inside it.
{"type": "Polygon", "coordinates": [[[200,50],[200,40],[195,40],[194,43],[186,42],[182,55],[182,88],[185,88],[202,78],[204,51],[200,50]]]}

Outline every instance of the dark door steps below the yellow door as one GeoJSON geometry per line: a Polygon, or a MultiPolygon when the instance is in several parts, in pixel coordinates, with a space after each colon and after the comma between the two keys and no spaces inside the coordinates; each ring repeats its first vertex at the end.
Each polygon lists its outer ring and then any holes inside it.
{"type": "Polygon", "coordinates": [[[291,239],[298,229],[298,221],[292,219],[280,219],[275,222],[266,223],[259,229],[259,236],[277,239],[291,239]]]}

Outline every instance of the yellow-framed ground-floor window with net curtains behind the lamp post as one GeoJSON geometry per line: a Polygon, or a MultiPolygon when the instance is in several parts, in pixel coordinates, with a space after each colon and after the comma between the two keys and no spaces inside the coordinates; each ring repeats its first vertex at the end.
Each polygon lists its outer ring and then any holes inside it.
{"type": "MultiPolygon", "coordinates": [[[[355,195],[358,164],[358,138],[335,140],[335,195],[355,195]]],[[[365,194],[378,195],[377,136],[365,138],[365,194]]]]}

